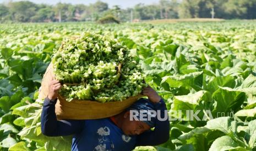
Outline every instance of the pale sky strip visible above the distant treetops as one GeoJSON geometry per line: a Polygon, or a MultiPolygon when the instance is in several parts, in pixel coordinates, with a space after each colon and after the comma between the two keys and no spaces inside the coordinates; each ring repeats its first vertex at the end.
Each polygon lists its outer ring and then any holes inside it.
{"type": "MultiPolygon", "coordinates": [[[[7,2],[8,0],[0,0],[0,2],[7,2]]],[[[22,0],[13,0],[13,1],[22,1],[22,0]]],[[[97,0],[29,0],[34,3],[44,3],[44,4],[56,4],[58,2],[62,3],[72,3],[72,4],[90,4],[95,3],[97,0]]],[[[119,5],[121,8],[133,7],[135,4],[144,3],[144,4],[153,4],[158,3],[158,0],[101,0],[102,2],[108,3],[108,7],[113,5],[119,5]]]]}

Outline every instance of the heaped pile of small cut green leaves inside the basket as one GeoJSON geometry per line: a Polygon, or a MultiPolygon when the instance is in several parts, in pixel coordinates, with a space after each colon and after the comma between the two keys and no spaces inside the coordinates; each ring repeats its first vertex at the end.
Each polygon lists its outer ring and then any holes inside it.
{"type": "Polygon", "coordinates": [[[52,59],[53,73],[63,83],[67,101],[122,101],[146,86],[140,65],[127,47],[100,34],[68,39],[52,59]]]}

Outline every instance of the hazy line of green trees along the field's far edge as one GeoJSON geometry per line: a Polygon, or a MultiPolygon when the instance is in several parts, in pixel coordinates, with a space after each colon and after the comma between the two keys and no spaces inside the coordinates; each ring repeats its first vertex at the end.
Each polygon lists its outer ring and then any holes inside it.
{"type": "Polygon", "coordinates": [[[0,22],[57,22],[97,21],[113,15],[121,21],[222,18],[256,19],[256,0],[160,0],[155,4],[139,3],[133,8],[110,8],[107,3],[55,5],[36,4],[30,1],[0,4],[0,22]]]}

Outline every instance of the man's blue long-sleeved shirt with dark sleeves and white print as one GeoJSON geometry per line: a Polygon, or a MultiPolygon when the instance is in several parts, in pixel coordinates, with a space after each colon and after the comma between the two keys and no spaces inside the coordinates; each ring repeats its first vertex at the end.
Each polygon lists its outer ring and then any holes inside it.
{"type": "MultiPolygon", "coordinates": [[[[143,98],[146,99],[146,98],[143,98]]],[[[46,136],[73,135],[71,150],[132,150],[136,146],[156,146],[169,138],[170,123],[156,118],[155,129],[140,135],[127,136],[110,118],[94,120],[57,120],[57,100],[43,102],[41,131],[46,136]]],[[[161,119],[166,115],[166,104],[161,99],[154,104],[161,119]]]]}

